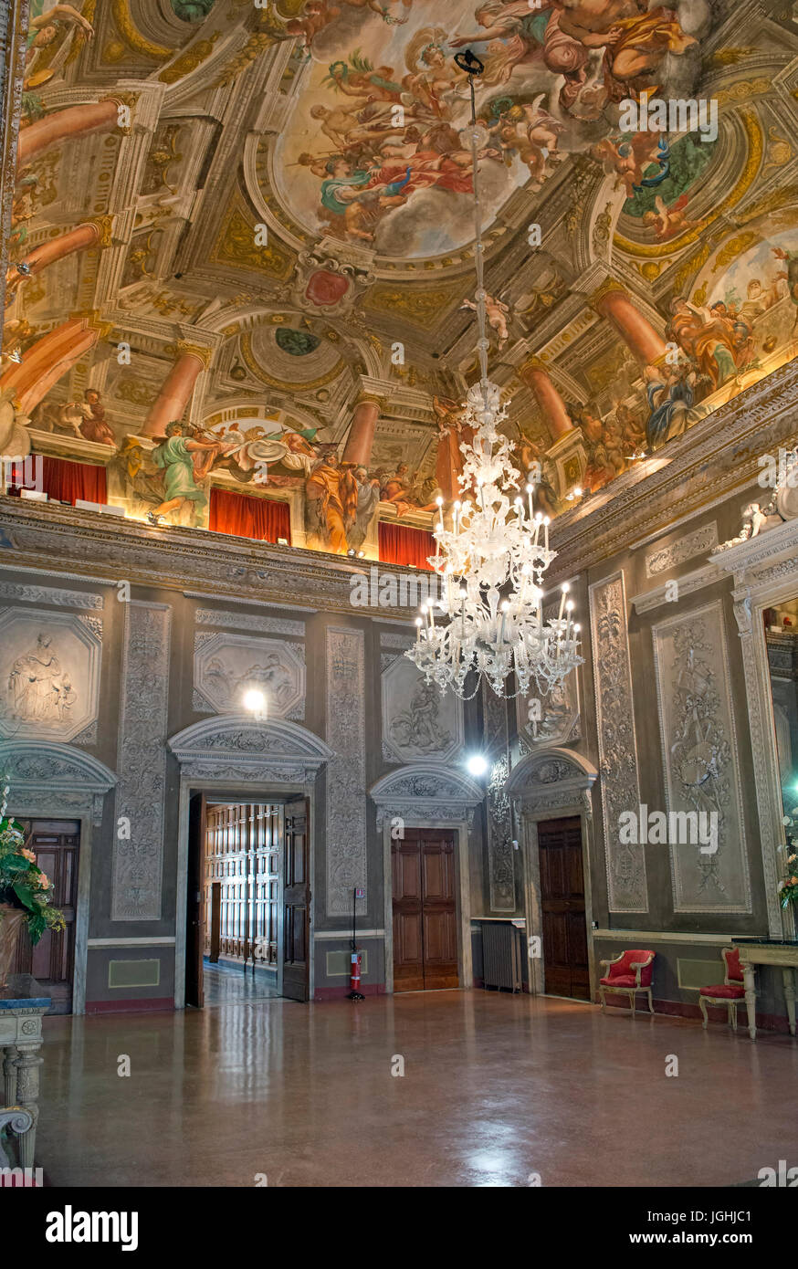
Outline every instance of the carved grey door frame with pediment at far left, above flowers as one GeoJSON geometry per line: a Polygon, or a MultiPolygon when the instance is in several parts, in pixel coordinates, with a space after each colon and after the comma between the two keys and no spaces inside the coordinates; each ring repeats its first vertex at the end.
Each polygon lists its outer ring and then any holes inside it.
{"type": "Polygon", "coordinates": [[[72,1013],[86,1009],[93,830],[103,824],[105,794],[117,775],[98,758],[47,740],[0,741],[0,772],[8,773],[8,813],[20,820],[77,820],[77,898],[72,1013]]]}

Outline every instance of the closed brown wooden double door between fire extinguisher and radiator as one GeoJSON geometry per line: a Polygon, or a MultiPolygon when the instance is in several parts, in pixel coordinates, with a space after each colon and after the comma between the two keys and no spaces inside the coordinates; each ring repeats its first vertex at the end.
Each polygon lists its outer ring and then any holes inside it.
{"type": "Polygon", "coordinates": [[[391,843],[395,991],[459,987],[454,844],[448,829],[391,843]]]}

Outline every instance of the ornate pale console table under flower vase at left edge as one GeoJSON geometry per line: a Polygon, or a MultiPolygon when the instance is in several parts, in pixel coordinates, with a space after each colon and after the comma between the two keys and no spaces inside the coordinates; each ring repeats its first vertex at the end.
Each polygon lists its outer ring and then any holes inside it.
{"type": "Polygon", "coordinates": [[[19,1162],[33,1167],[36,1124],[38,1118],[39,1056],[42,1047],[42,1014],[49,1009],[49,996],[42,994],[29,973],[11,975],[8,987],[0,989],[0,1048],[5,1076],[5,1105],[29,1112],[32,1124],[19,1137],[19,1162]]]}

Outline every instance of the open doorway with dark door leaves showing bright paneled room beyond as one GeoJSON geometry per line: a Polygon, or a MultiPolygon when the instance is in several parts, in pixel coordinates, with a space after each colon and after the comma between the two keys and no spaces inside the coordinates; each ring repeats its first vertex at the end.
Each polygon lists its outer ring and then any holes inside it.
{"type": "Polygon", "coordinates": [[[308,864],[304,797],[192,794],[186,1005],[308,999],[308,864]]]}

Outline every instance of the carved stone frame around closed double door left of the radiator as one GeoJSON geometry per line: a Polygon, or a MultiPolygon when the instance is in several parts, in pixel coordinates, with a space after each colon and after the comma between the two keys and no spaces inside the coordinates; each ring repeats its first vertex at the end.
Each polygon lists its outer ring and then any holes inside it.
{"type": "MultiPolygon", "coordinates": [[[[473,985],[471,954],[471,851],[468,830],[485,791],[447,763],[410,763],[383,775],[369,789],[382,829],[386,991],[393,992],[393,878],[391,832],[400,819],[407,829],[445,829],[457,835],[455,909],[459,990],[473,985]]],[[[453,989],[454,990],[454,989],[453,989]]]]}

